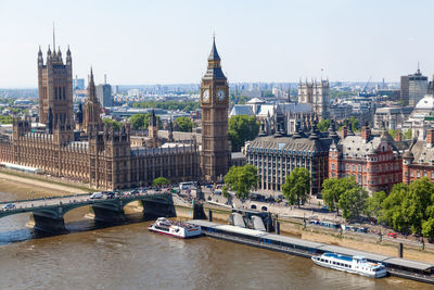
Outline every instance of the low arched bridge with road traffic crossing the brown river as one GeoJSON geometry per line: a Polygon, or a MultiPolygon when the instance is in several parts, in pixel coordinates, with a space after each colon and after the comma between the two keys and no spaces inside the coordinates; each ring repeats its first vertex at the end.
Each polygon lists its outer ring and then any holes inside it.
{"type": "Polygon", "coordinates": [[[104,223],[119,224],[126,220],[124,207],[131,202],[139,201],[143,205],[143,215],[176,216],[173,197],[170,193],[120,193],[117,196],[103,194],[101,199],[91,199],[92,193],[51,197],[31,200],[0,202],[0,218],[31,213],[35,229],[64,234],[67,232],[63,216],[81,206],[91,206],[94,219],[104,223]],[[3,209],[5,204],[14,204],[13,209],[3,209]]]}

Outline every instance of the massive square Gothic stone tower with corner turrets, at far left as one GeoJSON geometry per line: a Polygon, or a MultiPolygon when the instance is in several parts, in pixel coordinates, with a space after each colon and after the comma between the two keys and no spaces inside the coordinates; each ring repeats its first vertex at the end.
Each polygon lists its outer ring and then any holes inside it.
{"type": "Polygon", "coordinates": [[[53,126],[73,121],[73,59],[69,48],[66,51],[66,62],[63,63],[62,52],[47,52],[47,62],[43,64],[42,52],[38,52],[38,92],[39,92],[39,123],[47,124],[51,108],[53,126]]]}

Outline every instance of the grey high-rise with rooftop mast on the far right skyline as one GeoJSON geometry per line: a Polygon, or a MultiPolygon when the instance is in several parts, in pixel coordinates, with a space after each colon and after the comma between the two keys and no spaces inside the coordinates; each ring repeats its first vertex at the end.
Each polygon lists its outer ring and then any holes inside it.
{"type": "Polygon", "coordinates": [[[400,77],[400,100],[408,105],[417,103],[427,93],[427,77],[419,70],[416,74],[400,77]]]}

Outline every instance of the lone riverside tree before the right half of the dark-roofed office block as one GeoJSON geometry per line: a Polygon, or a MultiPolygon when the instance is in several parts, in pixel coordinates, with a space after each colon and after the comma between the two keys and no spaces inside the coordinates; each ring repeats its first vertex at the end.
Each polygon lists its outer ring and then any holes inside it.
{"type": "Polygon", "coordinates": [[[310,173],[306,168],[295,168],[286,176],[282,192],[289,203],[304,204],[310,193],[310,173]]]}

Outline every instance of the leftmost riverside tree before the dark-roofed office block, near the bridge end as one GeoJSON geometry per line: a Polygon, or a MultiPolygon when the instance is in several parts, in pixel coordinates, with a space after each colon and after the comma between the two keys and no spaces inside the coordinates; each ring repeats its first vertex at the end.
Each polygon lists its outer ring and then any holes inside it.
{"type": "Polygon", "coordinates": [[[225,186],[235,191],[237,197],[246,199],[251,190],[258,184],[257,168],[251,164],[244,166],[232,166],[225,176],[225,186]]]}

